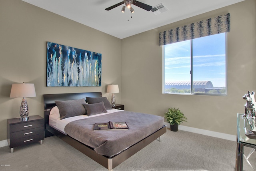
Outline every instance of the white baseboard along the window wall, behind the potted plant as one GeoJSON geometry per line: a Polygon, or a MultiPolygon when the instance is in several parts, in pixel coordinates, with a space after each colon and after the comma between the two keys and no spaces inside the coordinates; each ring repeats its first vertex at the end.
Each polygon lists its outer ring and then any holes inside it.
{"type": "MultiPolygon", "coordinates": [[[[167,127],[170,127],[170,123],[166,123],[166,125],[167,125],[167,127]]],[[[182,130],[182,131],[199,133],[199,134],[208,135],[208,136],[211,136],[211,137],[227,139],[227,140],[230,140],[230,141],[236,141],[236,135],[230,135],[230,134],[226,134],[226,133],[208,131],[208,130],[205,130],[205,129],[198,129],[198,128],[193,128],[193,127],[186,127],[186,126],[183,126],[183,125],[179,125],[179,129],[182,130]]]]}

